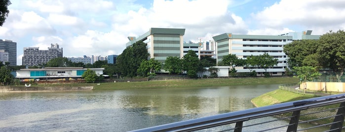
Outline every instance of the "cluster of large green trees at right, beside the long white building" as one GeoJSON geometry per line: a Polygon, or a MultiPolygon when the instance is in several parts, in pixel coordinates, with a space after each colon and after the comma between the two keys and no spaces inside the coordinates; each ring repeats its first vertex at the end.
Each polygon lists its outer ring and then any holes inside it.
{"type": "Polygon", "coordinates": [[[345,69],[345,32],[330,31],[317,40],[296,40],[284,46],[288,65],[301,81],[320,77],[320,70],[336,74],[341,82],[345,69]]]}

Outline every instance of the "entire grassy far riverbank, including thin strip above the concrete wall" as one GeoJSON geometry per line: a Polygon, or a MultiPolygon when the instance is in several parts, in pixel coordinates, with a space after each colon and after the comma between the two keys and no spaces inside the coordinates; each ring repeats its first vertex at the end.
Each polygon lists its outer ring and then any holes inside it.
{"type": "Polygon", "coordinates": [[[92,87],[92,90],[122,90],[122,89],[156,89],[156,88],[197,88],[212,86],[233,86],[233,85],[267,85],[267,84],[290,84],[297,83],[298,78],[293,77],[255,77],[255,78],[210,78],[210,79],[186,79],[186,80],[161,80],[141,82],[110,82],[110,83],[59,83],[59,84],[32,84],[16,87],[16,91],[25,91],[35,87],[36,89],[76,88],[92,87]]]}

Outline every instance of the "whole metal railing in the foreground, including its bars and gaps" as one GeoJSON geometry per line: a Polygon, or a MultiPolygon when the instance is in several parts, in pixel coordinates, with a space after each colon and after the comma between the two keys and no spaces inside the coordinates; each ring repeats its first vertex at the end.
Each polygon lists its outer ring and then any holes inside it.
{"type": "Polygon", "coordinates": [[[234,111],[132,132],[242,132],[242,130],[298,132],[312,131],[323,126],[329,127],[329,130],[325,132],[341,132],[344,115],[345,94],[341,94],[234,111]],[[285,120],[283,123],[286,124],[281,124],[282,120],[285,120]],[[276,122],[280,123],[276,125],[276,122]],[[299,127],[300,124],[309,122],[318,125],[308,128],[299,127]]]}

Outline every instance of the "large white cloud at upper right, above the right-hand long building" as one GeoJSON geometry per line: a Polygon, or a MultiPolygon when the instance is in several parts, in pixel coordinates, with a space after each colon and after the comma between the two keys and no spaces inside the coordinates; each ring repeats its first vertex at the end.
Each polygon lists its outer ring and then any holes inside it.
{"type": "MultiPolygon", "coordinates": [[[[281,0],[263,11],[252,14],[258,29],[301,29],[323,34],[344,29],[344,0],[281,0]]],[[[296,31],[301,32],[301,31],[296,31]]]]}

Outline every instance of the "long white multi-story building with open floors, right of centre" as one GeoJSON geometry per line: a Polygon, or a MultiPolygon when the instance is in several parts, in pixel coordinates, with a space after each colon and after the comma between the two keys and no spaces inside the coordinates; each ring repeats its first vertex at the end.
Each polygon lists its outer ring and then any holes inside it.
{"type": "MultiPolygon", "coordinates": [[[[278,59],[278,65],[267,71],[272,75],[282,75],[287,68],[288,57],[283,52],[285,44],[293,40],[319,39],[320,35],[311,35],[311,31],[301,33],[285,33],[280,35],[243,35],[223,33],[214,36],[216,41],[217,62],[222,61],[223,56],[235,54],[238,58],[245,59],[248,56],[258,56],[268,53],[278,59]]],[[[237,72],[250,72],[246,67],[235,67],[237,72]]],[[[254,68],[258,74],[265,72],[262,68],[254,68]]]]}

